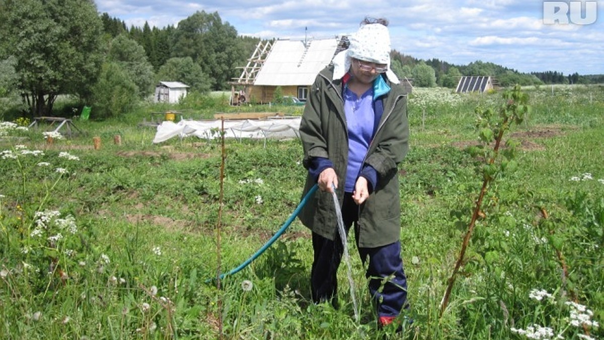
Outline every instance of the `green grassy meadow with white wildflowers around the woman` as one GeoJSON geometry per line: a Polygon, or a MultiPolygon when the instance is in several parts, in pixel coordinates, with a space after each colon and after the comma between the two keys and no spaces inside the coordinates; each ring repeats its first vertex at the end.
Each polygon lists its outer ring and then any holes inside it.
{"type": "Polygon", "coordinates": [[[26,120],[0,122],[0,338],[602,339],[604,87],[523,91],[530,111],[504,136],[518,144],[515,166],[489,185],[442,312],[483,183],[475,111],[504,100],[411,94],[399,173],[413,323],[399,333],[376,327],[352,234],[354,292],[342,263],[340,308],[312,303],[312,244],[299,221],[217,289],[217,271],[248,259],[300,202],[299,140],[226,140],[221,191],[220,140],[155,145],[155,129],[138,125],[166,110],[202,119],[300,108],[197,97],[104,121],[93,108],[75,121],[85,134],[52,143],[26,120]]]}

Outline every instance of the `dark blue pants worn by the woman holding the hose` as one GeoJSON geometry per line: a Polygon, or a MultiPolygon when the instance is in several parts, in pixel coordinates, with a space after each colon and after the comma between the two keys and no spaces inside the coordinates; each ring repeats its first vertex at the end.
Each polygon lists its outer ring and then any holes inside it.
{"type": "MultiPolygon", "coordinates": [[[[345,193],[342,220],[346,232],[355,224],[356,245],[361,261],[365,264],[369,259],[365,276],[369,279],[369,291],[376,302],[377,316],[397,316],[403,307],[408,307],[407,280],[400,257],[400,241],[375,248],[358,247],[358,211],[352,194],[345,193]],[[382,283],[383,278],[388,278],[386,283],[382,283]]],[[[332,241],[313,232],[312,246],[315,252],[310,273],[312,299],[315,303],[335,299],[338,290],[336,273],[344,252],[339,233],[336,233],[336,238],[332,241]]]]}

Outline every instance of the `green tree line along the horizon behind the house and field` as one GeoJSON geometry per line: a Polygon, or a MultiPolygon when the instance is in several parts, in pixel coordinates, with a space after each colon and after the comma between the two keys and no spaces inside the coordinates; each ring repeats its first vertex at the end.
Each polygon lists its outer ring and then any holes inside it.
{"type": "MultiPolygon", "coordinates": [[[[258,38],[240,36],[217,12],[197,11],[178,25],[127,27],[92,0],[0,0],[0,97],[18,93],[31,116],[50,115],[60,94],[115,116],[148,99],[159,80],[191,91],[227,90],[258,38]]],[[[519,73],[480,60],[452,65],[394,50],[391,67],[414,86],[455,88],[461,76],[493,76],[501,86],[588,83],[597,76],[519,73]]]]}

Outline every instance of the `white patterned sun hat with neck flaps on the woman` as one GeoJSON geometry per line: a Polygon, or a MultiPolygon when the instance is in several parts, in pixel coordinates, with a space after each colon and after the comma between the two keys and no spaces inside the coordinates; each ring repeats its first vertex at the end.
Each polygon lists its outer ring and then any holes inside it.
{"type": "Polygon", "coordinates": [[[362,25],[356,33],[350,36],[347,50],[333,57],[333,79],[340,79],[350,70],[352,58],[386,64],[386,76],[393,83],[400,83],[399,78],[390,69],[390,33],[388,27],[382,24],[362,25]]]}

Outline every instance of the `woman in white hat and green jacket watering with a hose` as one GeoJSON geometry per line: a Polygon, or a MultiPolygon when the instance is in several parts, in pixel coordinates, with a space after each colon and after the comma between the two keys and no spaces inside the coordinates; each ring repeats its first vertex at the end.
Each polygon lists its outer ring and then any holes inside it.
{"type": "Polygon", "coordinates": [[[400,257],[400,195],[397,165],[408,150],[406,96],[390,70],[390,34],[384,19],[365,19],[347,50],[315,79],[300,125],[303,195],[320,191],[300,214],[312,230],[312,298],[337,304],[336,272],[342,258],[332,192],[344,226],[355,226],[356,244],[367,264],[369,289],[379,325],[391,324],[407,307],[400,257]],[[367,262],[368,260],[368,262],[367,262]],[[382,278],[387,283],[382,289],[382,278]]]}

